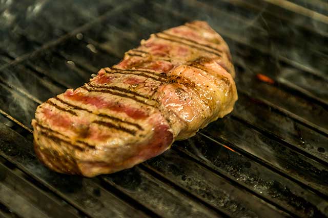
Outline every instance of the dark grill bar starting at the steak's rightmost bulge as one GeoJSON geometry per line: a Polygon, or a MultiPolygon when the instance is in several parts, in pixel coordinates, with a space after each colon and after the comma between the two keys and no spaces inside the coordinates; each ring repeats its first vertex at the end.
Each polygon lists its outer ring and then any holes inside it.
{"type": "Polygon", "coordinates": [[[287,142],[285,143],[287,146],[302,150],[306,152],[305,155],[311,155],[311,158],[316,159],[316,161],[327,164],[327,154],[319,152],[322,149],[327,149],[327,137],[294,122],[292,119],[285,119],[283,115],[272,111],[268,106],[259,106],[256,100],[244,97],[245,95],[242,93],[239,95],[239,101],[242,104],[236,106],[233,112],[235,118],[252,125],[252,128],[256,128],[262,134],[271,138],[274,137],[280,142],[287,142]],[[248,113],[244,112],[246,108],[248,113]],[[269,112],[271,116],[266,115],[269,112]],[[313,138],[316,138],[315,142],[313,138]]]}

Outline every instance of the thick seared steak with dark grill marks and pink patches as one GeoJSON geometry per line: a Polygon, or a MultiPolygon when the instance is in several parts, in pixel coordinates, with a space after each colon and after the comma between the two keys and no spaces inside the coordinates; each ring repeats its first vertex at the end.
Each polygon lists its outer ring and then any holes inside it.
{"type": "Polygon", "coordinates": [[[38,106],[35,152],[59,173],[132,167],[230,113],[234,75],[226,42],[206,22],[152,34],[89,83],[38,106]]]}

